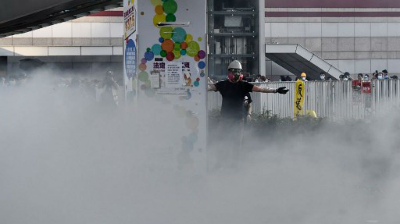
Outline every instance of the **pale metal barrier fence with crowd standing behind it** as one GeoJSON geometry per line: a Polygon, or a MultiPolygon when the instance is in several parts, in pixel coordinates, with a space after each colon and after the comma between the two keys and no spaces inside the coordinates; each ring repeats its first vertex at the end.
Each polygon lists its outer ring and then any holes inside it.
{"type": "MultiPolygon", "coordinates": [[[[253,83],[278,88],[286,86],[286,95],[251,93],[254,113],[269,110],[281,118],[294,117],[295,82],[253,83]]],[[[400,106],[400,80],[371,80],[306,82],[304,111],[314,110],[319,117],[364,118],[387,108],[400,106]]],[[[208,93],[208,110],[218,109],[222,97],[219,92],[208,93]]]]}

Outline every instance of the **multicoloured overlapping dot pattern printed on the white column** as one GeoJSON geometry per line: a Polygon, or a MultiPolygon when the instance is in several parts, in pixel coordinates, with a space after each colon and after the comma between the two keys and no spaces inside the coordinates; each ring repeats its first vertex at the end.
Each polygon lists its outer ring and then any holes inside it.
{"type": "MultiPolygon", "coordinates": [[[[198,87],[204,77],[205,77],[205,59],[207,57],[206,51],[200,49],[199,42],[202,41],[202,37],[193,37],[188,30],[182,27],[176,27],[171,25],[159,26],[159,23],[168,23],[182,21],[176,17],[176,12],[178,11],[178,4],[176,0],[148,0],[154,6],[154,16],[153,25],[159,29],[159,37],[156,43],[147,46],[146,52],[141,59],[141,64],[138,66],[140,73],[138,74],[138,79],[141,82],[140,88],[144,90],[144,93],[148,97],[155,97],[156,90],[150,88],[150,70],[153,64],[158,64],[160,62],[165,63],[169,61],[174,61],[180,59],[182,56],[191,57],[192,60],[187,58],[182,62],[182,69],[184,70],[184,79],[186,84],[186,94],[178,96],[179,100],[190,100],[192,99],[193,91],[190,87],[198,87]],[[162,60],[160,60],[162,57],[162,60]],[[153,62],[153,60],[156,60],[153,62]],[[147,63],[147,65],[146,65],[147,63]],[[186,64],[187,63],[187,64],[186,64]],[[188,67],[186,67],[188,66],[188,67]],[[196,67],[196,68],[194,68],[196,67]],[[192,74],[197,72],[197,75],[192,74]]],[[[150,21],[151,22],[151,21],[150,21]]],[[[148,37],[151,38],[151,37],[148,37]]],[[[157,40],[157,39],[155,39],[157,40]]],[[[165,65],[164,65],[165,66],[165,65]]],[[[175,105],[174,109],[176,115],[179,118],[184,119],[184,124],[188,128],[188,134],[181,138],[182,140],[182,151],[190,152],[194,149],[194,144],[198,141],[198,127],[200,124],[199,118],[191,111],[186,110],[183,106],[175,105]]]]}

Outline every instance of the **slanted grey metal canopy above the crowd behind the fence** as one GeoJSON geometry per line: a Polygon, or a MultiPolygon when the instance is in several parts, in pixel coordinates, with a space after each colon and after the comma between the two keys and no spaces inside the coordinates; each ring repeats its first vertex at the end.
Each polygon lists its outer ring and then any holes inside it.
{"type": "Polygon", "coordinates": [[[299,44],[266,44],[265,56],[297,77],[306,73],[312,80],[319,80],[322,72],[326,78],[339,79],[342,71],[299,44]]]}

